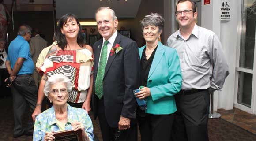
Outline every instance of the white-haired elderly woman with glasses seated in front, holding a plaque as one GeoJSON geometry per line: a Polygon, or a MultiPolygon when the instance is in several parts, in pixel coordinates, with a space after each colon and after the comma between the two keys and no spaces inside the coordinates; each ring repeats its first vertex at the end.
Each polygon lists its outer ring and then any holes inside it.
{"type": "Polygon", "coordinates": [[[54,132],[82,130],[83,141],[93,141],[93,126],[87,111],[67,104],[72,85],[63,74],[54,74],[45,83],[44,93],[52,108],[36,117],[33,141],[54,141],[54,132]]]}

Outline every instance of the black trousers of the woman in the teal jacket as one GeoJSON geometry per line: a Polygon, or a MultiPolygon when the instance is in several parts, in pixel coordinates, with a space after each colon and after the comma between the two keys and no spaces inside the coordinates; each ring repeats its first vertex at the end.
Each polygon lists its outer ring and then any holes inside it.
{"type": "Polygon", "coordinates": [[[138,116],[141,141],[170,141],[174,114],[138,116]]]}

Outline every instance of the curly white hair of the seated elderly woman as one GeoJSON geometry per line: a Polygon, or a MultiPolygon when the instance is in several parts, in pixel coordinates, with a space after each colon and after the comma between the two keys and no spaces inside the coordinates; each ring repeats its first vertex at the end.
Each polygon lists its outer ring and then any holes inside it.
{"type": "Polygon", "coordinates": [[[56,84],[56,83],[64,83],[66,85],[67,91],[68,92],[72,91],[72,84],[65,75],[53,74],[45,83],[45,88],[44,88],[45,96],[48,96],[48,94],[51,90],[51,85],[56,84]]]}

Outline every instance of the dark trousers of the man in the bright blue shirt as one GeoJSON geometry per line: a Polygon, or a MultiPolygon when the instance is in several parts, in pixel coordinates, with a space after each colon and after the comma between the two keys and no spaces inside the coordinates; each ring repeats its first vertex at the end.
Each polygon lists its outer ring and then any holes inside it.
{"type": "Polygon", "coordinates": [[[34,112],[38,99],[38,90],[34,79],[29,74],[17,76],[15,81],[12,82],[11,94],[14,111],[14,134],[33,133],[34,122],[31,115],[34,112]],[[22,117],[27,105],[30,107],[30,114],[28,126],[24,129],[22,117]]]}

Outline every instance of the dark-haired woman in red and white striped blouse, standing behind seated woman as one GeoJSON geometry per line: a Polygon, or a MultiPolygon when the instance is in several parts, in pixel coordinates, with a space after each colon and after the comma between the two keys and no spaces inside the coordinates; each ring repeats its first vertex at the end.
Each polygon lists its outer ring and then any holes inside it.
{"type": "Polygon", "coordinates": [[[90,111],[94,57],[92,48],[85,45],[81,29],[75,15],[66,14],[60,18],[56,28],[56,45],[52,45],[40,67],[40,73],[43,76],[38,89],[38,101],[32,115],[33,119],[41,113],[45,82],[57,73],[64,74],[72,82],[68,104],[90,111]]]}

